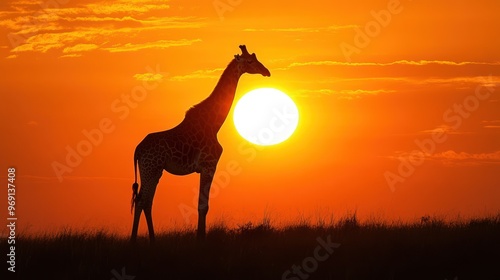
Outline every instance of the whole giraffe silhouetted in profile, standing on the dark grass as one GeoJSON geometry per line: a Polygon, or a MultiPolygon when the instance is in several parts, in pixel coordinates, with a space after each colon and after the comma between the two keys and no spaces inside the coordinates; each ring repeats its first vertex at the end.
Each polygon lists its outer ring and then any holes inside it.
{"type": "Polygon", "coordinates": [[[213,92],[203,101],[191,107],[184,120],[174,128],[148,134],[137,145],[134,153],[135,182],[132,185],[134,222],[131,241],[137,238],[142,211],[146,217],[149,239],[154,241],[151,210],[156,187],[163,170],[174,175],[200,174],[198,197],[198,239],[204,239],[210,186],[222,154],[217,133],[231,109],[236,87],[244,73],[271,76],[269,70],[249,54],[245,45],[222,73],[213,92]],[[137,183],[137,165],[141,188],[137,183]],[[135,206],[135,208],[134,208],[135,206]]]}

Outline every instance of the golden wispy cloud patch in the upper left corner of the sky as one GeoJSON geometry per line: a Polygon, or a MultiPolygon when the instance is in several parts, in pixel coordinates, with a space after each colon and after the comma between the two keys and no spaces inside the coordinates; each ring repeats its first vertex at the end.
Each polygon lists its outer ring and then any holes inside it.
{"type": "Polygon", "coordinates": [[[75,57],[95,50],[129,52],[187,46],[200,39],[138,41],[137,38],[151,38],[142,36],[144,32],[151,34],[205,25],[203,18],[158,16],[170,8],[165,1],[159,0],[120,0],[78,6],[65,3],[47,8],[33,3],[35,1],[10,3],[9,13],[2,13],[0,17],[0,27],[8,32],[9,58],[33,52],[56,51],[61,57],[75,57]],[[130,38],[135,41],[130,42],[130,38]]]}

